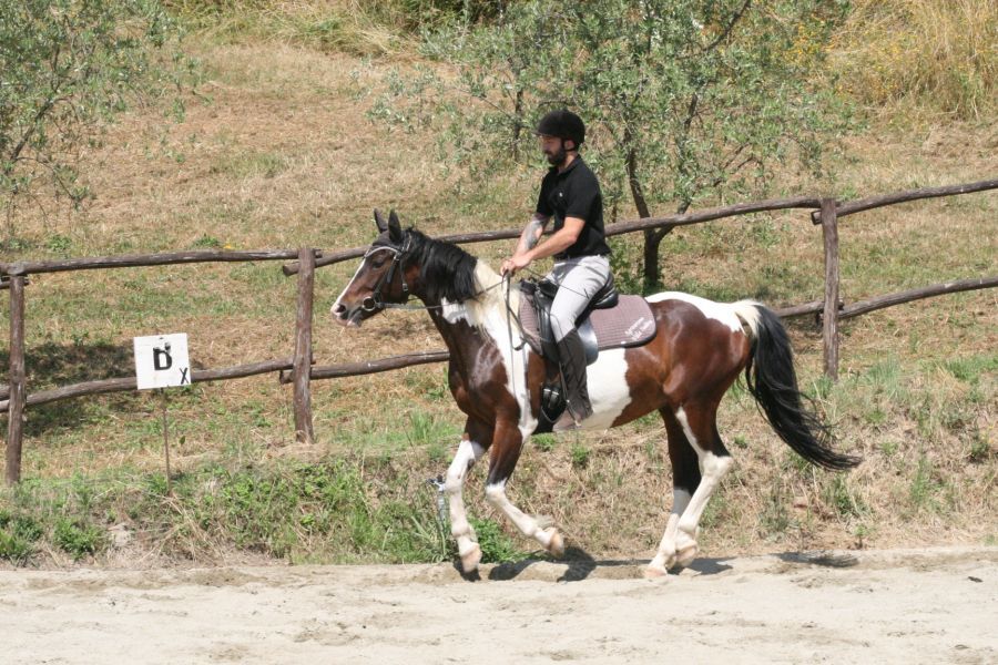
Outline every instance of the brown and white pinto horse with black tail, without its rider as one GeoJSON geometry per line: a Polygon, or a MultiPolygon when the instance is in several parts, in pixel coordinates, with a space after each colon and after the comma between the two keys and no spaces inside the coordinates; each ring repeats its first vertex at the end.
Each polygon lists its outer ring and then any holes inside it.
{"type": "MultiPolygon", "coordinates": [[[[385,308],[422,300],[450,351],[449,383],[468,416],[447,471],[451,533],[466,573],[478,567],[481,550],[468,523],[461,485],[487,451],[486,498],[523,535],[560,556],[564,543],[553,526],[541,528],[506,495],[520,451],[538,427],[544,361],[523,344],[510,311],[519,290],[464,249],[403,229],[393,212],[387,223],[375,212],[380,235],[333,305],[344,326],[385,308]]],[[[807,410],[797,389],[786,330],[758,303],[721,304],[681,293],[648,298],[658,326],[646,345],[600,352],[589,366],[593,413],[582,429],[602,430],[658,409],[669,436],[673,468],[672,512],[650,576],[684,566],[696,555],[696,530],[707,500],[732,460],[717,433],[721,398],[745,370],[748,390],[776,433],[808,461],[847,469],[858,459],[827,444],[827,430],[807,410]]],[[[556,427],[556,430],[559,428],[556,427]]]]}

